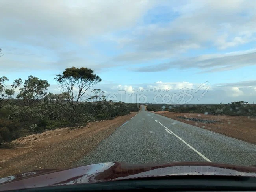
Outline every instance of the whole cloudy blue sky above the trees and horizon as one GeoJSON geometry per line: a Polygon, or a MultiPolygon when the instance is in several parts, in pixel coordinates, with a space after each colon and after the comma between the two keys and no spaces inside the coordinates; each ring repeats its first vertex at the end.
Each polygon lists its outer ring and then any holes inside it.
{"type": "Polygon", "coordinates": [[[87,67],[102,78],[93,88],[111,100],[255,103],[255,4],[1,0],[0,76],[11,84],[33,75],[50,83],[48,92],[60,93],[57,74],[87,67]]]}

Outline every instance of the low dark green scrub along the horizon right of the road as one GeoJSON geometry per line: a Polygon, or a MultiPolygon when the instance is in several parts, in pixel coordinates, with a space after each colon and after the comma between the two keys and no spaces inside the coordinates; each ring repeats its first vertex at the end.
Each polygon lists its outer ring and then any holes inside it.
{"type": "Polygon", "coordinates": [[[256,116],[256,104],[244,101],[229,104],[198,104],[198,105],[162,105],[147,104],[148,111],[169,111],[178,113],[204,113],[231,116],[256,116]]]}

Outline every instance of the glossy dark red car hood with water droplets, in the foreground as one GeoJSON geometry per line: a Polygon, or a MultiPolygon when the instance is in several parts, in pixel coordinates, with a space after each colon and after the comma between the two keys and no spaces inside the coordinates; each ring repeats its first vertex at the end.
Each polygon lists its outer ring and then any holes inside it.
{"type": "Polygon", "coordinates": [[[177,175],[256,177],[256,167],[194,161],[168,162],[164,164],[123,164],[108,162],[66,170],[35,170],[5,177],[0,179],[0,191],[177,175]]]}

